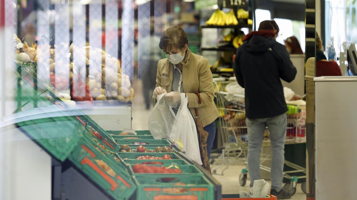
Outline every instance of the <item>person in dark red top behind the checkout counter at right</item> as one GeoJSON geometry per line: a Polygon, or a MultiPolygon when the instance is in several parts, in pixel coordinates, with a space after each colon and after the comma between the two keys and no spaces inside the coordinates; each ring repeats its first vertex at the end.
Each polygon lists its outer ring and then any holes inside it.
{"type": "Polygon", "coordinates": [[[334,60],[328,61],[323,53],[320,36],[316,32],[316,58],[307,59],[305,64],[305,75],[315,77],[315,60],[316,60],[316,77],[321,76],[342,76],[341,68],[334,60]]]}

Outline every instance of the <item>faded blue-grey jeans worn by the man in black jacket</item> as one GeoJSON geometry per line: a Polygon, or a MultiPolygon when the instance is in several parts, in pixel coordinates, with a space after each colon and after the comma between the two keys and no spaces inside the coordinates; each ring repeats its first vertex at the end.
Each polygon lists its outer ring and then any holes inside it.
{"type": "Polygon", "coordinates": [[[271,188],[280,191],[283,184],[284,145],[286,137],[286,113],[260,119],[246,118],[248,129],[248,172],[250,186],[260,179],[260,152],[264,130],[268,127],[271,141],[271,188]]]}

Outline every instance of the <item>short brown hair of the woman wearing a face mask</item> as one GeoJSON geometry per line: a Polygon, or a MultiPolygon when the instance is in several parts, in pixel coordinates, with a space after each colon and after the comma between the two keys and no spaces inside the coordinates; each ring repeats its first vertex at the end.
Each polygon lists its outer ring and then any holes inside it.
{"type": "Polygon", "coordinates": [[[160,49],[167,50],[172,47],[182,49],[185,47],[185,44],[188,44],[187,34],[178,26],[166,29],[160,36],[160,49]]]}

